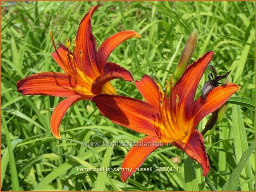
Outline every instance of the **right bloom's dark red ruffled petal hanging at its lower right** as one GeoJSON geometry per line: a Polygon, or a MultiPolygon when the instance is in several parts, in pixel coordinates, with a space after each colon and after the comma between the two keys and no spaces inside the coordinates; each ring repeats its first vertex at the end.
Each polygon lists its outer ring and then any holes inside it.
{"type": "Polygon", "coordinates": [[[198,130],[194,130],[187,138],[186,142],[175,141],[172,144],[183,150],[191,159],[197,161],[202,169],[203,176],[205,177],[210,171],[209,159],[206,154],[203,136],[198,130]]]}

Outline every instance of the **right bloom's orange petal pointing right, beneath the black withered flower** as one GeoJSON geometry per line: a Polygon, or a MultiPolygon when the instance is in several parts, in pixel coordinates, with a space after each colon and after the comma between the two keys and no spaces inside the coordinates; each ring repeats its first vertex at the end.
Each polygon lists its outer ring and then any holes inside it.
{"type": "Polygon", "coordinates": [[[199,97],[194,102],[193,117],[194,117],[194,127],[211,112],[218,109],[223,105],[240,87],[234,83],[229,83],[226,85],[221,85],[213,88],[208,92],[206,100],[203,96],[199,97]]]}

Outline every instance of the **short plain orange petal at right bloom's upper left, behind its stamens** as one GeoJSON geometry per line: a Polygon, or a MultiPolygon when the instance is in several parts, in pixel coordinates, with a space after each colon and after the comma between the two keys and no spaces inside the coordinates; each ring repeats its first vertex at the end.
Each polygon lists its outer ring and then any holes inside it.
{"type": "Polygon", "coordinates": [[[141,81],[134,81],[134,84],[146,102],[158,107],[159,88],[150,76],[144,75],[141,81]]]}

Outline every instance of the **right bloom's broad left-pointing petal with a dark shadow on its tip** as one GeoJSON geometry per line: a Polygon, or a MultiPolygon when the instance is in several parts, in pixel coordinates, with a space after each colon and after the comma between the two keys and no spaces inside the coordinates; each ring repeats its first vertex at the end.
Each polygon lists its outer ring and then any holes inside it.
{"type": "Polygon", "coordinates": [[[163,128],[158,109],[151,104],[118,95],[97,95],[93,102],[103,116],[139,133],[157,137],[163,128]]]}

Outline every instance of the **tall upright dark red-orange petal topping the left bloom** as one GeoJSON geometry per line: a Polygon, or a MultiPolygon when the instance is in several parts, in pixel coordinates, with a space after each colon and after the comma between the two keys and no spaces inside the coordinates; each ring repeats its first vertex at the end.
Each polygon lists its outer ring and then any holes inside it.
{"type": "Polygon", "coordinates": [[[76,36],[74,56],[85,75],[96,78],[100,75],[96,40],[91,32],[91,17],[100,5],[93,6],[79,24],[76,36]],[[80,58],[81,57],[81,58],[80,58]]]}

